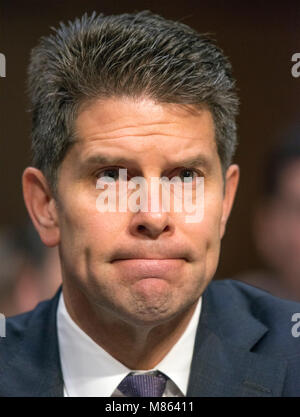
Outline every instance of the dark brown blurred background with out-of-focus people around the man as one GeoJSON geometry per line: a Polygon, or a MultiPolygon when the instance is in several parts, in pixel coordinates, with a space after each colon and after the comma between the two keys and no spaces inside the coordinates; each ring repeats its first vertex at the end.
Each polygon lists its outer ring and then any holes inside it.
{"type": "Polygon", "coordinates": [[[30,49],[51,26],[84,12],[144,9],[211,33],[237,79],[241,179],[215,278],[300,301],[300,77],[291,72],[292,55],[300,53],[299,0],[1,0],[0,312],[6,315],[51,297],[61,279],[57,251],[45,248],[30,226],[21,190],[30,163],[30,49]]]}

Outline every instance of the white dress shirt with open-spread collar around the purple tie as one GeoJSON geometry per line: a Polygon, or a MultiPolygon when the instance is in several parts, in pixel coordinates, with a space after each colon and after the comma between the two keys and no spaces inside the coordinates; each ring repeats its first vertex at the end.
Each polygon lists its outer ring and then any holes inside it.
{"type": "MultiPolygon", "coordinates": [[[[186,395],[193,357],[201,297],[193,316],[177,343],[153,370],[170,379],[163,397],[186,395]]],[[[61,292],[57,309],[57,329],[65,397],[122,397],[117,386],[132,372],[95,343],[70,317],[61,292]]],[[[147,371],[136,372],[145,373],[147,371]]]]}

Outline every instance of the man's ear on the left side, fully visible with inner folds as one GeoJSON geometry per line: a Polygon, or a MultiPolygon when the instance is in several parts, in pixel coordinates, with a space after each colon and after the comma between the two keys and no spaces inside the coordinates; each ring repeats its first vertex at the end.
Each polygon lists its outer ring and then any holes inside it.
{"type": "Polygon", "coordinates": [[[22,177],[23,196],[31,220],[46,246],[60,240],[57,204],[43,173],[28,167],[22,177]]]}

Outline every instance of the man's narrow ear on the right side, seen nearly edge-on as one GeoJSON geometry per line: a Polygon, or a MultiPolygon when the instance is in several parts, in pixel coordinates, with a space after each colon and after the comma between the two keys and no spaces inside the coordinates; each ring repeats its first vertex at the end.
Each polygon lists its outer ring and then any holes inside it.
{"type": "Polygon", "coordinates": [[[225,190],[223,198],[223,210],[220,224],[220,236],[221,239],[224,236],[228,217],[230,215],[234,197],[236,194],[237,186],[239,183],[240,170],[238,165],[233,164],[226,171],[225,177],[225,190]]]}

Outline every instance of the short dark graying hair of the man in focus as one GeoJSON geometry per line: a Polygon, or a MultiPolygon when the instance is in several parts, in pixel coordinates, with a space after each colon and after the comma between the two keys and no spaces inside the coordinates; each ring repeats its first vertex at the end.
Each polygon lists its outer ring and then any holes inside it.
{"type": "Polygon", "coordinates": [[[208,35],[149,11],[93,12],[52,29],[31,52],[28,92],[33,165],[54,188],[80,106],[112,96],[206,106],[224,174],[236,148],[239,102],[231,64],[208,35]]]}

